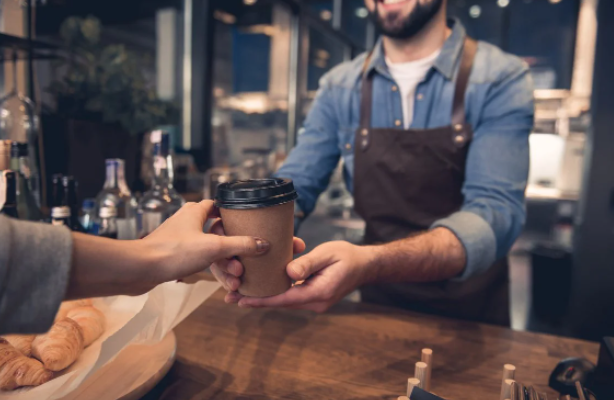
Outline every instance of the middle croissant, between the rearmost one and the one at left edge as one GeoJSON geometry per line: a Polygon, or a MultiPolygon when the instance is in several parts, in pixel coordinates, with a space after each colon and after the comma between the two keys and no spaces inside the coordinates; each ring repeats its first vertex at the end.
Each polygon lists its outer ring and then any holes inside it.
{"type": "Polygon", "coordinates": [[[32,356],[41,360],[45,368],[61,371],[71,365],[83,351],[83,331],[70,318],[56,322],[49,332],[32,342],[32,356]]]}

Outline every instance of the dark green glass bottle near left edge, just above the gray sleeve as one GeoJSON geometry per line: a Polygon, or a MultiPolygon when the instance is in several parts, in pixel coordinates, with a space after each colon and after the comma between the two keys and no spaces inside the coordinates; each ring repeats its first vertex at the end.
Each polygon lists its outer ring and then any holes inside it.
{"type": "Polygon", "coordinates": [[[11,143],[11,169],[17,178],[17,208],[21,219],[40,221],[41,211],[30,187],[30,160],[27,143],[11,143]]]}

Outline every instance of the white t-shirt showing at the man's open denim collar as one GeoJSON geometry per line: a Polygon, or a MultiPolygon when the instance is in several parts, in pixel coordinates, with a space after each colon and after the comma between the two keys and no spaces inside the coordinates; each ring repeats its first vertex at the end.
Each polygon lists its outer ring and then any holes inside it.
{"type": "Polygon", "coordinates": [[[403,104],[403,126],[409,129],[414,119],[414,98],[418,84],[424,80],[427,72],[435,64],[435,59],[441,50],[437,50],[430,56],[407,63],[394,64],[386,57],[386,64],[390,74],[399,85],[399,93],[403,104]]]}

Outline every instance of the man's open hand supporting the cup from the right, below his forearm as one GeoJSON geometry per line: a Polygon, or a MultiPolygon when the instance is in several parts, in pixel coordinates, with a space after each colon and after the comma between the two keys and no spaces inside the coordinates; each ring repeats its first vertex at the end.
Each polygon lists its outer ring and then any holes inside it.
{"type": "Polygon", "coordinates": [[[288,264],[288,275],[304,283],[266,298],[243,297],[231,292],[226,302],[238,303],[240,307],[289,307],[324,312],[371,279],[371,254],[371,248],[348,242],[324,243],[288,264]]]}

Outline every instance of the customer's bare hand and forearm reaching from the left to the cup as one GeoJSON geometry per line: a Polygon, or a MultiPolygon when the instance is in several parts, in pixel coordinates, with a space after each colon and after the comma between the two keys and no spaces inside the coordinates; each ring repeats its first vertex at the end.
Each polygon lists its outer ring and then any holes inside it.
{"type": "Polygon", "coordinates": [[[73,233],[66,298],[139,295],[160,283],[204,271],[218,260],[265,253],[269,243],[254,237],[203,233],[218,216],[211,200],[188,203],[141,240],[112,240],[73,233]]]}

